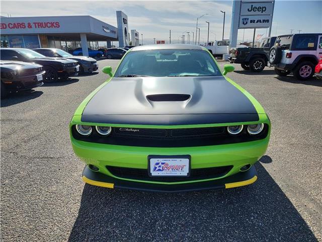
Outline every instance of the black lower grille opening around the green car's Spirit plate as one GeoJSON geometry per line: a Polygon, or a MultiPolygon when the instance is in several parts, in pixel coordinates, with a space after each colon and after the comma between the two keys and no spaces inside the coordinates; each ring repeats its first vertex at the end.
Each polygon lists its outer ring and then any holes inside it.
{"type": "Polygon", "coordinates": [[[176,181],[203,180],[221,177],[231,170],[232,165],[191,169],[189,177],[150,177],[148,175],[147,169],[126,168],[117,166],[106,166],[106,168],[113,175],[120,178],[148,181],[164,181],[171,183],[176,181]]]}

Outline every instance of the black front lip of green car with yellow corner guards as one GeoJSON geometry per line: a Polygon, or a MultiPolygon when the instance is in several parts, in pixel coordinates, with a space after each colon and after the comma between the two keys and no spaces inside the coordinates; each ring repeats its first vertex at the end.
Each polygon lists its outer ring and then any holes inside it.
{"type": "Polygon", "coordinates": [[[90,185],[111,188],[111,189],[127,189],[138,190],[142,192],[161,192],[161,193],[179,193],[193,192],[201,190],[218,190],[246,186],[257,180],[257,172],[254,166],[244,172],[239,172],[229,177],[217,180],[203,181],[193,184],[148,184],[137,183],[135,181],[120,180],[105,175],[100,172],[92,171],[88,166],[83,171],[83,180],[90,185]]]}

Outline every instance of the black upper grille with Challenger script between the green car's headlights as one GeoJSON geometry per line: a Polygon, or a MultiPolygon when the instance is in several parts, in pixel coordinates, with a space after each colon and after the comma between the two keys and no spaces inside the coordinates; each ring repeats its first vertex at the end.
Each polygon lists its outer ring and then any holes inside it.
{"type": "Polygon", "coordinates": [[[141,129],[113,127],[109,136],[103,137],[95,131],[84,137],[72,127],[75,139],[93,143],[139,146],[139,147],[196,147],[234,144],[264,139],[268,135],[268,125],[260,135],[249,135],[244,128],[239,135],[229,135],[226,127],[189,129],[141,129]]]}

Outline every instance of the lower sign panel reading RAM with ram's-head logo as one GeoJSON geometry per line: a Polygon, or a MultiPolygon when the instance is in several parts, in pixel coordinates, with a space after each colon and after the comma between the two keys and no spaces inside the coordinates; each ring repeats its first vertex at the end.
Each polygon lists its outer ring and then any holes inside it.
{"type": "Polygon", "coordinates": [[[271,26],[271,15],[240,16],[239,29],[268,28],[271,26]]]}

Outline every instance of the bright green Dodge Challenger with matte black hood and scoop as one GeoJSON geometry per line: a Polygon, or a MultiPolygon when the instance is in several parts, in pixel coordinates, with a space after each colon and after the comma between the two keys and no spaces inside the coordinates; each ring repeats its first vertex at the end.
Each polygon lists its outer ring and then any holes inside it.
{"type": "Polygon", "coordinates": [[[130,49],[70,122],[91,185],[152,192],[234,188],[257,179],[271,124],[202,46],[130,49]]]}

